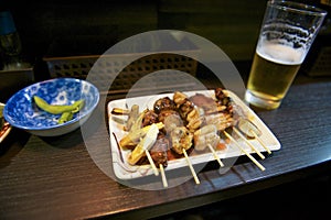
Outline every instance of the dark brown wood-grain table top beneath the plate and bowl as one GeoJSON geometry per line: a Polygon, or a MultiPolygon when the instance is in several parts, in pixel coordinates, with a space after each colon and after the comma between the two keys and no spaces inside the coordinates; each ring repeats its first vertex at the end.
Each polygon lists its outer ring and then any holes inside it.
{"type": "Polygon", "coordinates": [[[109,170],[94,163],[86,145],[96,151],[109,146],[98,110],[87,122],[93,124],[87,134],[84,125],[60,138],[14,129],[1,143],[0,219],[145,219],[324,173],[331,169],[330,97],[331,80],[298,76],[279,109],[256,109],[281,143],[260,161],[265,172],[242,158],[224,175],[211,165],[199,173],[200,185],[190,179],[164,190],[139,190],[114,180],[105,174],[111,174],[109,154],[97,158],[109,170]]]}

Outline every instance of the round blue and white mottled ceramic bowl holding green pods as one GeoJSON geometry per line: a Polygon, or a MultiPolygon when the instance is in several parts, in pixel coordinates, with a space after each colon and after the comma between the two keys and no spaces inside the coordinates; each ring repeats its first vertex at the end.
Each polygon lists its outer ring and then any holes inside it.
{"type": "Polygon", "coordinates": [[[98,89],[88,81],[75,78],[55,78],[25,87],[6,103],[4,119],[12,125],[40,136],[56,136],[68,133],[83,124],[99,101],[98,89]],[[58,124],[61,114],[47,113],[33,101],[39,96],[50,105],[72,105],[85,100],[83,109],[73,119],[58,124]]]}

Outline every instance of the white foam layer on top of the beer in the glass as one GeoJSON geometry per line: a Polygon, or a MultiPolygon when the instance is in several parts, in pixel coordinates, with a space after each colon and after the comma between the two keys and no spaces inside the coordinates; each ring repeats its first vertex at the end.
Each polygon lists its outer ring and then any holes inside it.
{"type": "Polygon", "coordinates": [[[259,45],[256,53],[268,61],[285,65],[301,64],[305,58],[305,50],[302,48],[292,48],[287,45],[273,43],[259,45]]]}

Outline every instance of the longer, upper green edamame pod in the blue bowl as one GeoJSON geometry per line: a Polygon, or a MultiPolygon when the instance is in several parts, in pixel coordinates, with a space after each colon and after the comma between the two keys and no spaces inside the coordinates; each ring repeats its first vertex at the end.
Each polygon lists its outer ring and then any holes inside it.
{"type": "Polygon", "coordinates": [[[49,105],[45,100],[43,100],[42,98],[40,98],[38,96],[34,96],[33,99],[39,108],[41,108],[42,110],[44,110],[49,113],[53,113],[53,114],[61,114],[61,113],[67,112],[67,111],[76,113],[84,106],[83,99],[75,101],[71,106],[68,106],[68,105],[49,105]]]}

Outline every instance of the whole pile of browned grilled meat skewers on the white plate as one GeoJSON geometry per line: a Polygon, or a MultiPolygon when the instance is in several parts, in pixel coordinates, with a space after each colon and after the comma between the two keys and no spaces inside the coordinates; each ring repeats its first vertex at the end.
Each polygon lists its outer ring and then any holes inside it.
{"type": "MultiPolygon", "coordinates": [[[[238,123],[244,117],[241,109],[236,107],[231,97],[228,97],[223,89],[215,89],[214,92],[215,97],[211,98],[200,94],[188,97],[186,95],[177,91],[173,95],[173,99],[170,99],[169,97],[160,98],[154,102],[152,110],[146,109],[141,113],[139,113],[139,107],[135,105],[130,111],[114,109],[115,114],[121,113],[128,116],[126,130],[129,133],[120,140],[120,146],[132,150],[128,158],[129,163],[136,164],[139,158],[147,156],[154,174],[158,175],[158,172],[156,172],[158,168],[161,172],[163,186],[167,187],[168,183],[164,168],[168,166],[167,151],[170,148],[177,155],[183,155],[186,158],[195,183],[200,184],[194,167],[189,158],[188,150],[192,146],[194,146],[194,150],[197,152],[209,148],[209,151],[213,153],[215,160],[220,163],[220,166],[224,166],[214,150],[218,147],[217,144],[220,144],[221,141],[220,133],[223,132],[227,139],[236,144],[238,148],[253,161],[253,163],[264,170],[265,168],[263,165],[246,152],[245,148],[243,148],[225,130],[232,128],[239,138],[245,139],[244,141],[253,148],[253,151],[264,158],[260,152],[246,140],[254,136],[254,139],[261,143],[258,138],[259,134],[249,129],[250,136],[247,134],[244,136],[236,129],[236,127],[239,129],[238,123]],[[147,133],[154,125],[158,128],[158,133],[160,130],[166,136],[158,138],[152,146],[146,146],[145,142],[147,141],[147,133]],[[164,140],[168,140],[168,143],[166,143],[167,141],[164,140]]],[[[264,144],[263,146],[265,147],[264,144]]]]}

